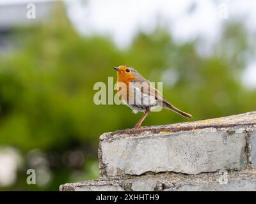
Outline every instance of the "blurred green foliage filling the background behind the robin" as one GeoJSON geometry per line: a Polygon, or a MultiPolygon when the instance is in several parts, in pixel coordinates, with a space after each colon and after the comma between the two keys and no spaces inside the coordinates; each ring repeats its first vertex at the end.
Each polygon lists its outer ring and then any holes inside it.
{"type": "MultiPolygon", "coordinates": [[[[239,22],[228,22],[207,57],[196,51],[198,41],[177,44],[163,27],[139,33],[129,48],[119,50],[106,36],[77,34],[59,7],[46,22],[13,31],[15,51],[0,56],[0,143],[22,154],[88,147],[92,151],[85,154],[87,160],[79,167],[85,175],[79,179],[97,177],[99,135],[132,128],[141,116],[124,105],[93,103],[95,82],[116,77],[112,67],[121,64],[133,66],[152,82],[161,82],[167,69],[175,71],[177,82],[164,84],[163,94],[193,120],[255,110],[255,91],[244,89],[237,77],[246,67],[244,52],[255,49],[241,28],[239,22]]],[[[150,113],[143,125],[183,121],[163,110],[150,113]]],[[[57,190],[76,181],[72,171],[63,164],[54,167],[51,185],[42,188],[28,187],[22,171],[13,189],[57,190]]]]}

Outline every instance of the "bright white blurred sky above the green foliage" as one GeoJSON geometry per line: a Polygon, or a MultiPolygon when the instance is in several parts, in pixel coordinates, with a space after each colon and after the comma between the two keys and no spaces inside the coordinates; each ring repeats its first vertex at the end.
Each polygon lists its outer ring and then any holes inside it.
{"type": "MultiPolygon", "coordinates": [[[[0,5],[40,1],[0,0],[0,5]]],[[[77,31],[109,34],[121,48],[127,47],[139,30],[150,32],[157,23],[167,25],[176,41],[202,37],[204,46],[198,48],[202,53],[209,52],[207,48],[218,38],[221,24],[227,18],[246,18],[248,29],[256,33],[255,0],[65,0],[65,3],[77,31]]],[[[256,88],[256,62],[246,69],[243,82],[256,88]]]]}

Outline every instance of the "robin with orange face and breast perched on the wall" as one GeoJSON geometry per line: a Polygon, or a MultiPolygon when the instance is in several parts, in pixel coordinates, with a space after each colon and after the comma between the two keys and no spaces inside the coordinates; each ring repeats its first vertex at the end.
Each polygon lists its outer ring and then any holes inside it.
{"type": "Polygon", "coordinates": [[[169,103],[136,69],[131,66],[118,66],[113,68],[117,71],[118,96],[120,96],[125,105],[132,109],[132,112],[144,113],[134,128],[140,128],[148,113],[159,106],[172,110],[187,119],[192,118],[192,115],[189,113],[182,112],[169,103]]]}

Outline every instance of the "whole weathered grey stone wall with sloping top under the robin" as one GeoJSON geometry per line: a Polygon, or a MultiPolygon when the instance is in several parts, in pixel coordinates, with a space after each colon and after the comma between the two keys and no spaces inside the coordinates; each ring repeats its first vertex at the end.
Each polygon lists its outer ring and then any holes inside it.
{"type": "Polygon", "coordinates": [[[60,191],[256,191],[256,112],[100,136],[97,180],[60,191]]]}

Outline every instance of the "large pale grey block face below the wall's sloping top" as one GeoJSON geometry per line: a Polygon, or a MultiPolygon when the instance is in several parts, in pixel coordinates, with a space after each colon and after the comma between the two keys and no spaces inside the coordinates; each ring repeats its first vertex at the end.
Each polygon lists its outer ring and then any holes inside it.
{"type": "Polygon", "coordinates": [[[101,161],[108,176],[141,175],[147,171],[196,174],[242,170],[246,167],[244,131],[206,128],[103,140],[101,161]]]}

